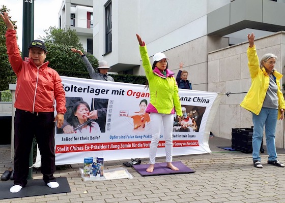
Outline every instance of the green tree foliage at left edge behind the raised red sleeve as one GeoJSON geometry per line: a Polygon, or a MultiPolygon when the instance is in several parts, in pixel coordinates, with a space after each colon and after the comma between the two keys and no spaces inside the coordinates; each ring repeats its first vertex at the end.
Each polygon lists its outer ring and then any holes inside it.
{"type": "MultiPolygon", "coordinates": [[[[9,9],[7,9],[6,6],[2,6],[0,9],[0,12],[8,12],[9,9]]],[[[15,29],[17,29],[15,23],[16,21],[11,22],[14,24],[15,29]]],[[[7,27],[4,23],[4,21],[0,18],[0,91],[4,91],[9,89],[10,83],[16,82],[16,75],[12,70],[12,67],[10,65],[10,62],[8,60],[8,54],[7,54],[7,47],[6,47],[6,30],[7,27]]]]}

